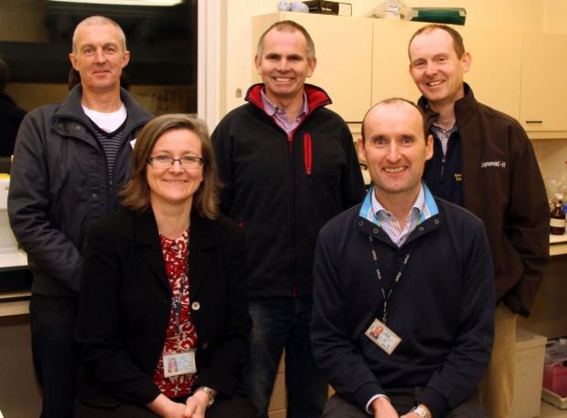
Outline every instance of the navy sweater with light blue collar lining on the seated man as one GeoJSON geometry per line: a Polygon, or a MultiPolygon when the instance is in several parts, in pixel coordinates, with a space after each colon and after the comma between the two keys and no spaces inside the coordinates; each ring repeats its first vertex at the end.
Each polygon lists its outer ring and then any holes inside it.
{"type": "Polygon", "coordinates": [[[400,248],[367,216],[369,195],[321,230],[312,346],[329,383],[348,402],[364,409],[375,394],[423,386],[416,401],[441,418],[476,390],[487,367],[494,332],[493,267],[475,215],[433,200],[427,190],[425,202],[431,215],[400,248]],[[382,319],[383,307],[369,236],[377,243],[386,284],[412,247],[388,300],[386,325],[401,337],[391,355],[364,335],[374,319],[382,319]]]}

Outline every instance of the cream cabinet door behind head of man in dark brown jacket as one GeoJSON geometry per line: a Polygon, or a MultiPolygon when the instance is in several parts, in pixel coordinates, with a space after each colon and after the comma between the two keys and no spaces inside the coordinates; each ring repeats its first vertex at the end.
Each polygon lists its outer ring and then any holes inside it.
{"type": "MultiPolygon", "coordinates": [[[[390,20],[374,22],[372,101],[402,97],[416,101],[421,93],[409,73],[408,44],[426,24],[390,20]]],[[[454,26],[470,52],[472,67],[465,74],[479,101],[519,117],[519,37],[512,32],[454,26]]]]}

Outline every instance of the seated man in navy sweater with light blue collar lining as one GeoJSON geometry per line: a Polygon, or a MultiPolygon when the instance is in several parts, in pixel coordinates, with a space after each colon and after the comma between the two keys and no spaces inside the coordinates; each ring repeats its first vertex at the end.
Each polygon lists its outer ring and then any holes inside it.
{"type": "Polygon", "coordinates": [[[365,200],[319,234],[313,352],[335,394],[325,417],[486,417],[494,288],[480,219],[421,182],[433,138],[412,102],[369,110],[365,200]]]}

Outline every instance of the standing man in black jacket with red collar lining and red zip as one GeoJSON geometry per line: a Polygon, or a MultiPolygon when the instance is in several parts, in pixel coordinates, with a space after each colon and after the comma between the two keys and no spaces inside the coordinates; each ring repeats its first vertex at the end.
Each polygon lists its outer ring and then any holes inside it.
{"type": "Polygon", "coordinates": [[[305,85],[315,45],[293,21],[268,28],[255,57],[262,84],[213,132],[221,208],[244,229],[250,266],[251,401],[267,417],[285,348],[288,417],[319,417],[326,381],[309,345],[316,237],[358,204],[364,184],[348,126],[326,92],[305,85]]]}

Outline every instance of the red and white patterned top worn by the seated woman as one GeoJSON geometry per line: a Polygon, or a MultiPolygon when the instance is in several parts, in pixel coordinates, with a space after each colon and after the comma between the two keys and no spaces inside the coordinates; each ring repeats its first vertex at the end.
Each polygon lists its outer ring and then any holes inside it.
{"type": "MultiPolygon", "coordinates": [[[[186,273],[189,230],[177,239],[169,239],[165,235],[159,235],[164,261],[166,263],[166,273],[169,286],[173,290],[173,298],[179,298],[179,290],[186,273]]],[[[173,304],[169,312],[169,323],[166,330],[166,342],[164,343],[163,353],[177,351],[177,339],[179,339],[179,350],[186,351],[197,347],[197,331],[191,321],[191,308],[189,306],[189,275],[187,266],[186,288],[181,300],[181,310],[179,313],[180,336],[176,334],[176,317],[173,304]]],[[[181,374],[178,376],[164,376],[164,360],[159,357],[154,371],[154,381],[160,391],[168,398],[177,398],[191,392],[191,385],[197,378],[197,374],[181,374]]]]}

